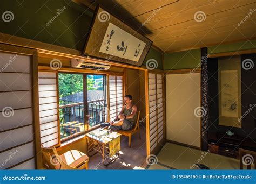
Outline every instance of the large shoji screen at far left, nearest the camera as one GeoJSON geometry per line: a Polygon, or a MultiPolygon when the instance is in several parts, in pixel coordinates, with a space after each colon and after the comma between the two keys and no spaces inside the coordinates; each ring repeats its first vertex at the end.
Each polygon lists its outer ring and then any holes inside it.
{"type": "Polygon", "coordinates": [[[31,55],[0,52],[0,169],[36,168],[32,61],[31,55]]]}

